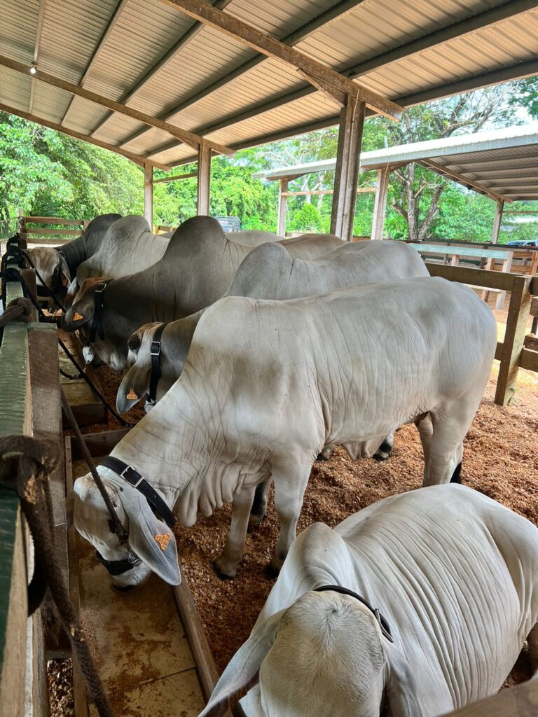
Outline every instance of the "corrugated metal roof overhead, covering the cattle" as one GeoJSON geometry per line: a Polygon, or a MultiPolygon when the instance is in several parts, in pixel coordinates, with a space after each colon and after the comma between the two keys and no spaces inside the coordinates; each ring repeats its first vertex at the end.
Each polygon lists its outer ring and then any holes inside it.
{"type": "MultiPolygon", "coordinates": [[[[538,72],[537,5],[231,0],[225,11],[279,39],[291,37],[287,42],[313,59],[412,104],[455,92],[461,80],[473,87],[538,72]],[[313,30],[308,25],[335,8],[330,22],[313,30]],[[455,25],[461,22],[467,24],[455,25]]],[[[251,146],[338,120],[338,106],[293,69],[158,0],[0,0],[0,16],[0,54],[29,63],[38,44],[39,70],[74,83],[83,77],[85,89],[118,102],[128,98],[132,108],[228,146],[251,146]]],[[[32,92],[27,75],[0,66],[0,103],[143,158],[168,165],[196,158],[164,130],[37,80],[33,85],[32,92]]]]}

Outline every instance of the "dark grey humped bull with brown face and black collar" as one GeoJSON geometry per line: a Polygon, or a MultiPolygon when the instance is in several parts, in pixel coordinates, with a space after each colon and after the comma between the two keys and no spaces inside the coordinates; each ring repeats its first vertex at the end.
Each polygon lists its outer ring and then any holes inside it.
{"type": "MultiPolygon", "coordinates": [[[[144,222],[141,217],[134,219],[144,222]]],[[[114,226],[117,224],[120,222],[114,226]]],[[[95,338],[99,358],[121,371],[127,361],[127,340],[141,324],[176,320],[220,298],[237,267],[253,251],[253,247],[231,241],[230,236],[212,217],[187,219],[167,240],[159,261],[136,274],[110,281],[100,295],[102,319],[95,338]]],[[[286,250],[302,258],[318,257],[343,243],[332,234],[285,239],[286,250]]],[[[102,282],[103,277],[86,280],[65,315],[62,326],[66,331],[87,331],[92,325],[96,292],[102,282]]]]}

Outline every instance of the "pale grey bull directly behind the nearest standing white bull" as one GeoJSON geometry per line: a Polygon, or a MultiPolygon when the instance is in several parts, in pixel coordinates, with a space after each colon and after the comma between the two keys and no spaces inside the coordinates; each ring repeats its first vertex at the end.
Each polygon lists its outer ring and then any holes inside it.
{"type": "MultiPolygon", "coordinates": [[[[225,296],[250,296],[255,299],[298,299],[323,294],[363,282],[394,281],[429,276],[420,254],[405,242],[355,242],[316,259],[293,257],[285,244],[263,244],[250,252],[235,273],[225,296]]],[[[161,333],[161,375],[156,400],[181,375],[192,336],[204,310],[166,324],[161,333]]],[[[128,371],[116,397],[120,413],[143,399],[151,377],[151,344],[159,323],[138,328],[127,342],[128,371]],[[136,395],[136,398],[128,396],[136,395]]]]}

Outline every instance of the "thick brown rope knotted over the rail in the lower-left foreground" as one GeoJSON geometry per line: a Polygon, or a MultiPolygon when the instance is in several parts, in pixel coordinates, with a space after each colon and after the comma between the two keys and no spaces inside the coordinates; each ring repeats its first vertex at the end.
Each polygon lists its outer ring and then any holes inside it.
{"type": "MultiPolygon", "coordinates": [[[[0,327],[18,317],[28,322],[31,313],[32,304],[27,299],[16,299],[0,316],[0,327]]],[[[48,589],[80,665],[90,700],[100,717],[114,717],[57,561],[48,480],[55,465],[57,451],[49,442],[24,435],[0,437],[0,484],[15,490],[34,545],[35,568],[28,587],[29,615],[39,607],[48,589]]]]}

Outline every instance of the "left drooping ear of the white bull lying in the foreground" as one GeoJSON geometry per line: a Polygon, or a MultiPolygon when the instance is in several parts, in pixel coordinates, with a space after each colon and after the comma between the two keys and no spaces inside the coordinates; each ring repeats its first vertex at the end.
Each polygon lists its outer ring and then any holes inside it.
{"type": "Polygon", "coordinates": [[[261,664],[275,642],[284,612],[280,610],[255,626],[247,642],[228,663],[199,717],[221,717],[229,709],[230,701],[240,699],[258,683],[261,664]]]}

